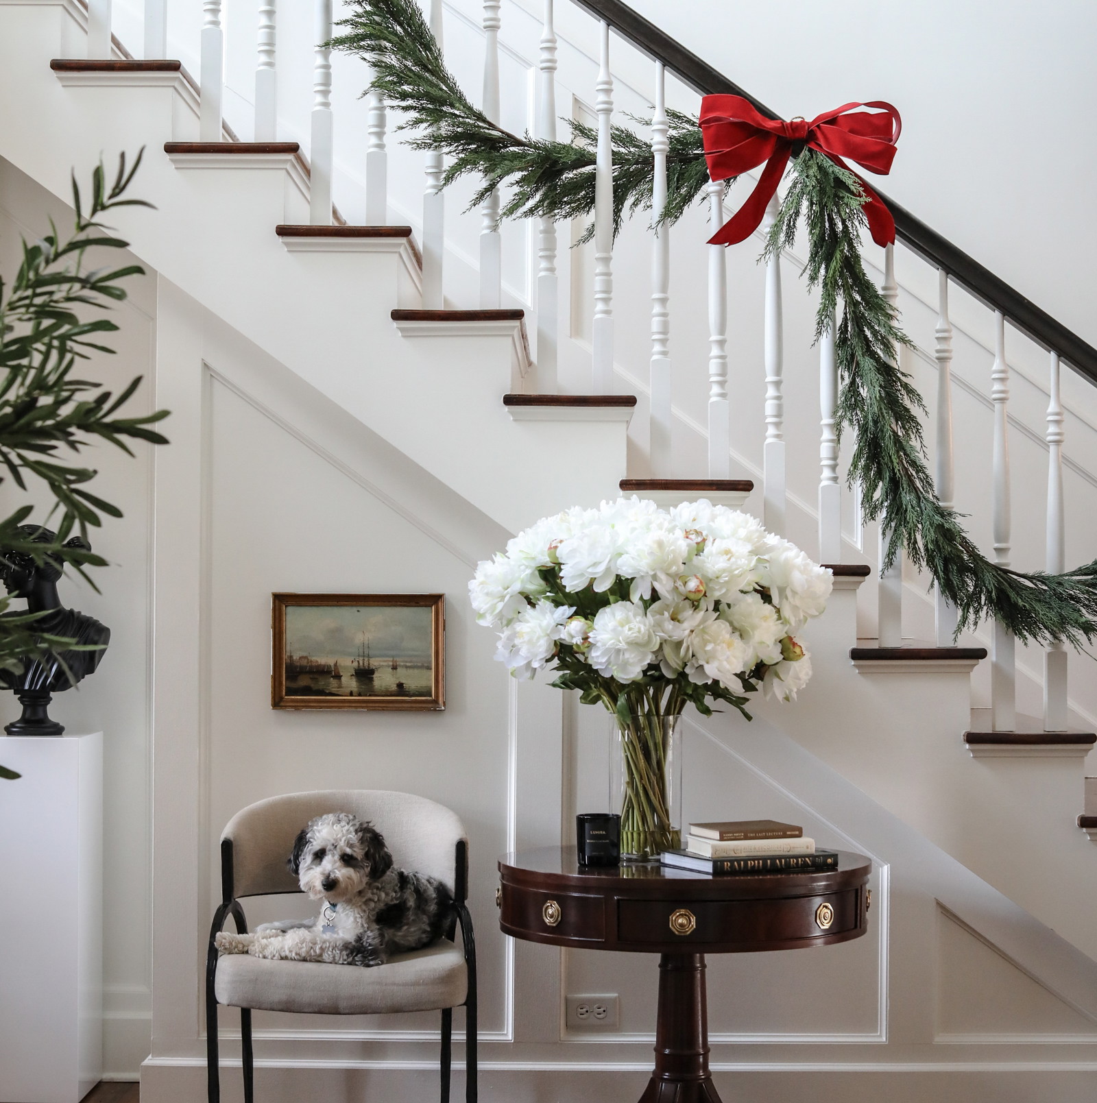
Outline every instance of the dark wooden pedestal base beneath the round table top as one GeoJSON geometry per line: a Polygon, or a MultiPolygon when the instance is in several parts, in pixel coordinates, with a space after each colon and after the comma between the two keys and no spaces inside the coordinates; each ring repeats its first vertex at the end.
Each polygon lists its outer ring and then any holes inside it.
{"type": "Polygon", "coordinates": [[[704,954],[661,954],[656,1071],[640,1103],[721,1103],[709,1072],[704,954]]]}

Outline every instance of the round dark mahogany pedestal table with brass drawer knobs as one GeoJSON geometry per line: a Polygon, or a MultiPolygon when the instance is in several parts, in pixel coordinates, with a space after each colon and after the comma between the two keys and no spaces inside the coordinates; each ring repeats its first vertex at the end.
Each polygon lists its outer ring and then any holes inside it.
{"type": "Polygon", "coordinates": [[[508,854],[499,925],[552,946],[660,954],[656,1068],[640,1103],[721,1103],[709,1072],[704,955],[861,938],[872,864],[839,854],[834,870],[747,877],[581,866],[574,848],[508,854]]]}

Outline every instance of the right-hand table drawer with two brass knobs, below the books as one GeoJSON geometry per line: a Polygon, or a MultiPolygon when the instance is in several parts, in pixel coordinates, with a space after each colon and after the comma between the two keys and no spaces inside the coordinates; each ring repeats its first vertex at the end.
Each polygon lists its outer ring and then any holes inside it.
{"type": "Polygon", "coordinates": [[[620,900],[617,939],[631,943],[773,943],[852,931],[860,890],[785,900],[620,900]]]}

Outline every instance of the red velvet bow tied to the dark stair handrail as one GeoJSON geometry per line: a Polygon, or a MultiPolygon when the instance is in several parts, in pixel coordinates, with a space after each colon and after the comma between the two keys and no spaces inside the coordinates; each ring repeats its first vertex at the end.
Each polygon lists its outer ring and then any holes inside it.
{"type": "MultiPolygon", "coordinates": [[[[803,119],[784,122],[759,115],[742,96],[705,96],[701,100],[701,136],[709,175],[713,180],[727,180],[766,162],[746,203],[709,239],[709,244],[737,245],[758,228],[794,148],[810,146],[849,170],[850,167],[842,160],[848,157],[870,172],[886,175],[895,158],[895,143],[902,128],[899,113],[882,100],[843,104],[810,122],[803,119]],[[854,111],[855,107],[878,107],[881,110],[869,114],[854,111]],[[846,111],[851,114],[846,115],[846,111]]],[[[853,174],[869,196],[864,213],[872,239],[877,245],[894,242],[895,219],[892,213],[865,181],[858,173],[853,174]]]]}

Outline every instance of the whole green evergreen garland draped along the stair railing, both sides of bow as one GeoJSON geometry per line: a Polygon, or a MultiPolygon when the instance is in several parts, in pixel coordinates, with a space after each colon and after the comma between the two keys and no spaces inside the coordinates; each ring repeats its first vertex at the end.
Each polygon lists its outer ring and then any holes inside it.
{"type": "MultiPolygon", "coordinates": [[[[344,33],[330,45],[368,62],[373,77],[366,92],[380,93],[403,114],[396,129],[409,135],[407,144],[449,159],[443,186],[478,178],[470,208],[505,188],[501,218],[590,216],[597,139],[590,127],[565,120],[572,141],[563,142],[519,137],[493,124],[447,69],[414,0],[351,0],[339,26],[344,33]]],[[[677,222],[709,183],[697,120],[677,111],[668,118],[668,199],[660,224],[677,222]]],[[[626,215],[651,206],[653,154],[651,143],[627,127],[614,126],[611,139],[616,234],[626,215]]],[[[837,429],[840,437],[853,437],[849,482],[861,486],[864,516],[878,520],[887,534],[883,566],[902,549],[928,571],[957,609],[957,635],[994,618],[1024,643],[1083,647],[1097,638],[1097,560],[1062,575],[993,564],[968,536],[961,515],[936,495],[922,430],[925,405],[899,365],[899,349],[912,342],[861,257],[865,201],[852,172],[803,149],[791,161],[763,257],[790,247],[799,227],[806,228],[803,275],[821,292],[816,340],[834,318],[841,377],[837,429]]],[[[592,235],[588,226],[581,240],[592,235]]]]}

